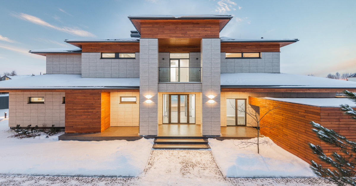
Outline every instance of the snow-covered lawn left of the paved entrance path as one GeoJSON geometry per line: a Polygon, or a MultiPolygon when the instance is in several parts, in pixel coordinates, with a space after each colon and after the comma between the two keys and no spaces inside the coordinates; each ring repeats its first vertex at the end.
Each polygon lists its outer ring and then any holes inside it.
{"type": "Polygon", "coordinates": [[[8,138],[12,134],[8,126],[9,120],[0,122],[0,174],[137,176],[145,169],[153,144],[153,139],[144,138],[58,141],[60,134],[8,138]]]}

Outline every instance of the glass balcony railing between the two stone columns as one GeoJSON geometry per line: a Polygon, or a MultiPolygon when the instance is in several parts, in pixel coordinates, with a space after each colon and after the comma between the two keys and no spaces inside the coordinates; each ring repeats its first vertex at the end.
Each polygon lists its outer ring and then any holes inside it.
{"type": "Polygon", "coordinates": [[[159,83],[201,82],[201,67],[158,67],[159,83]]]}

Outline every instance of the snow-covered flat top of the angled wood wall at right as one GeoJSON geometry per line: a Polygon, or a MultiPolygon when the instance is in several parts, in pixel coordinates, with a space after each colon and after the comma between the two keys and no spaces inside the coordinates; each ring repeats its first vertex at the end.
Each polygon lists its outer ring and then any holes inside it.
{"type": "Polygon", "coordinates": [[[283,101],[289,103],[298,103],[303,105],[318,106],[318,107],[340,107],[341,104],[347,104],[351,107],[356,107],[356,103],[345,98],[275,98],[261,97],[267,100],[283,101]]]}

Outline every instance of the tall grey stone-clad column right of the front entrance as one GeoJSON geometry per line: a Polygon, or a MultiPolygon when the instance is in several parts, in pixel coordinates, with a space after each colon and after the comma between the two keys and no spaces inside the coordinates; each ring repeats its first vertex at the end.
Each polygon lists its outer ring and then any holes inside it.
{"type": "Polygon", "coordinates": [[[203,38],[200,42],[202,67],[203,135],[220,135],[220,38],[203,38]],[[214,102],[209,103],[209,95],[214,102]]]}

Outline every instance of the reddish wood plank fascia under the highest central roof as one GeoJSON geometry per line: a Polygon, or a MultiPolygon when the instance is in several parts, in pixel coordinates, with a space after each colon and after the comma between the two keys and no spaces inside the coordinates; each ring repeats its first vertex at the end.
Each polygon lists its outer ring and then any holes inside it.
{"type": "Polygon", "coordinates": [[[220,32],[219,20],[135,21],[140,22],[141,38],[219,38],[220,32]]]}

